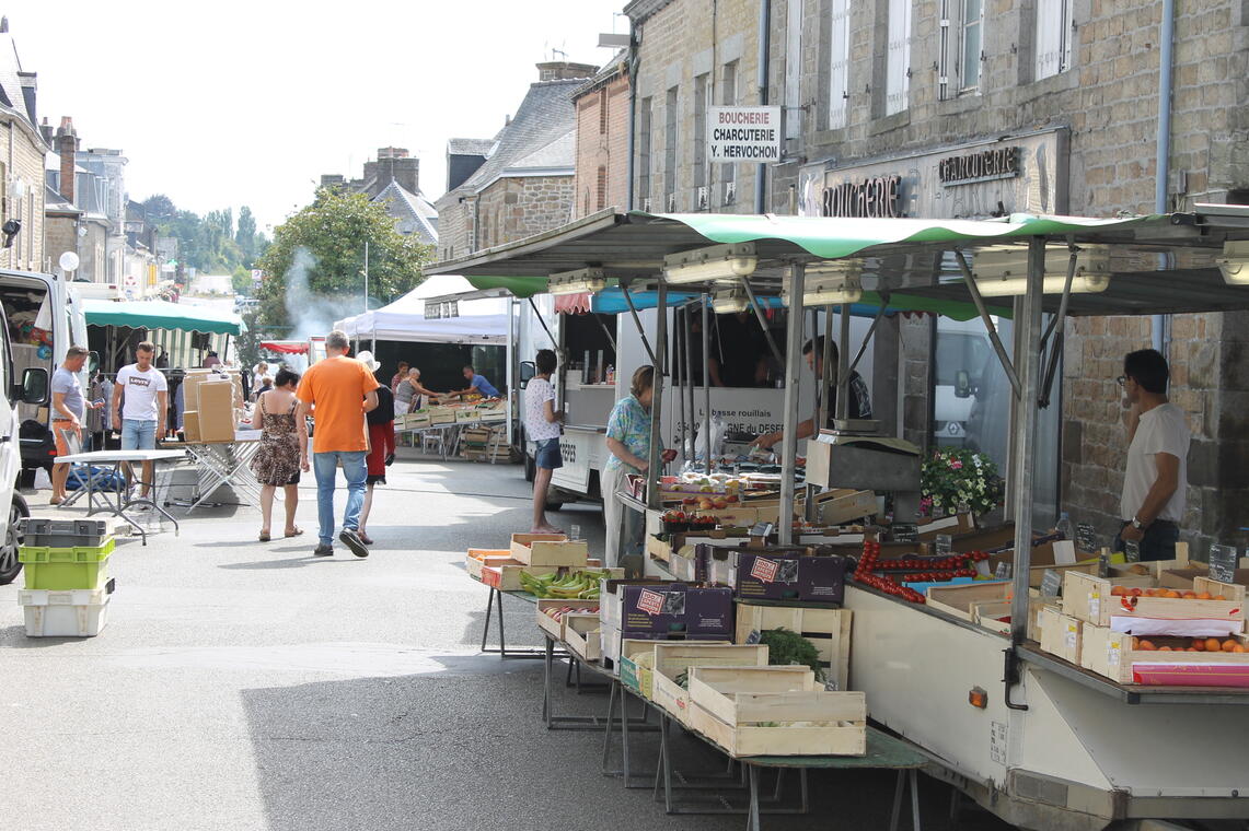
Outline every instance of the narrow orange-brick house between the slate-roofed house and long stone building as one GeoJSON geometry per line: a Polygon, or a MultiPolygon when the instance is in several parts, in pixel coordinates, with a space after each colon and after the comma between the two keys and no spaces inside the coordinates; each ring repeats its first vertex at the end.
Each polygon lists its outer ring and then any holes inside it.
{"type": "Polygon", "coordinates": [[[572,94],[577,111],[573,218],[628,205],[628,64],[613,57],[572,94]]]}

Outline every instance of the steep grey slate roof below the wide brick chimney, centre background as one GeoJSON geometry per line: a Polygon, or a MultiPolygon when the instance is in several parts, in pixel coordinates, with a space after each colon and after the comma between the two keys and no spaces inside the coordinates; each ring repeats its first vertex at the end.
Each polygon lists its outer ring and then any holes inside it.
{"type": "Polygon", "coordinates": [[[572,173],[577,129],[572,91],[586,79],[540,81],[530,85],[516,117],[498,134],[498,146],[477,171],[456,190],[480,191],[496,178],[526,168],[567,168],[572,173]]]}

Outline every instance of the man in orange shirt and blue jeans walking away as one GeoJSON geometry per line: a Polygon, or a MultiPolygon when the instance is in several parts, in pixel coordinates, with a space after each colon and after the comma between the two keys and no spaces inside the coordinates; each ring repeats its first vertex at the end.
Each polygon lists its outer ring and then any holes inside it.
{"type": "MultiPolygon", "coordinates": [[[[368,368],[347,357],[351,343],[338,329],[325,339],[326,358],[312,364],[295,396],[300,399],[296,425],[312,415],[312,469],[316,473],[317,515],[321,522],[316,556],[333,554],[333,488],[335,469],[342,464],[347,479],[347,510],[342,518],[338,539],[356,556],[368,556],[368,547],[360,539],[360,509],[365,503],[365,455],[368,449],[365,413],[377,407],[377,379],[368,368]]],[[[309,469],[307,449],[302,467],[309,469]]]]}

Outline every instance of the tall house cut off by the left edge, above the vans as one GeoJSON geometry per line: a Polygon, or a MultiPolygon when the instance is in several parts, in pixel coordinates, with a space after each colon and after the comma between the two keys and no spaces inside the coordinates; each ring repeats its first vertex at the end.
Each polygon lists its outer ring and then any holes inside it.
{"type": "MultiPolygon", "coordinates": [[[[0,248],[0,266],[44,271],[44,155],[47,145],[35,126],[35,72],[24,71],[9,21],[0,21],[0,225],[20,225],[11,245],[0,248]]],[[[11,227],[11,226],[10,226],[11,227]]],[[[7,236],[7,235],[6,235],[7,236]]]]}

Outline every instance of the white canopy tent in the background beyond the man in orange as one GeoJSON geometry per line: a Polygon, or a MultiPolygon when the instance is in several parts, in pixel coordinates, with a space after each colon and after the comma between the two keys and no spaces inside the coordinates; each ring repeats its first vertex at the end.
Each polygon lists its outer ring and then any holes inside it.
{"type": "Polygon", "coordinates": [[[393,303],[337,321],[333,328],[342,329],[356,341],[506,346],[511,303],[508,298],[458,301],[456,317],[426,319],[426,298],[446,298],[448,294],[473,291],[476,289],[463,277],[437,275],[426,278],[393,303]]]}

